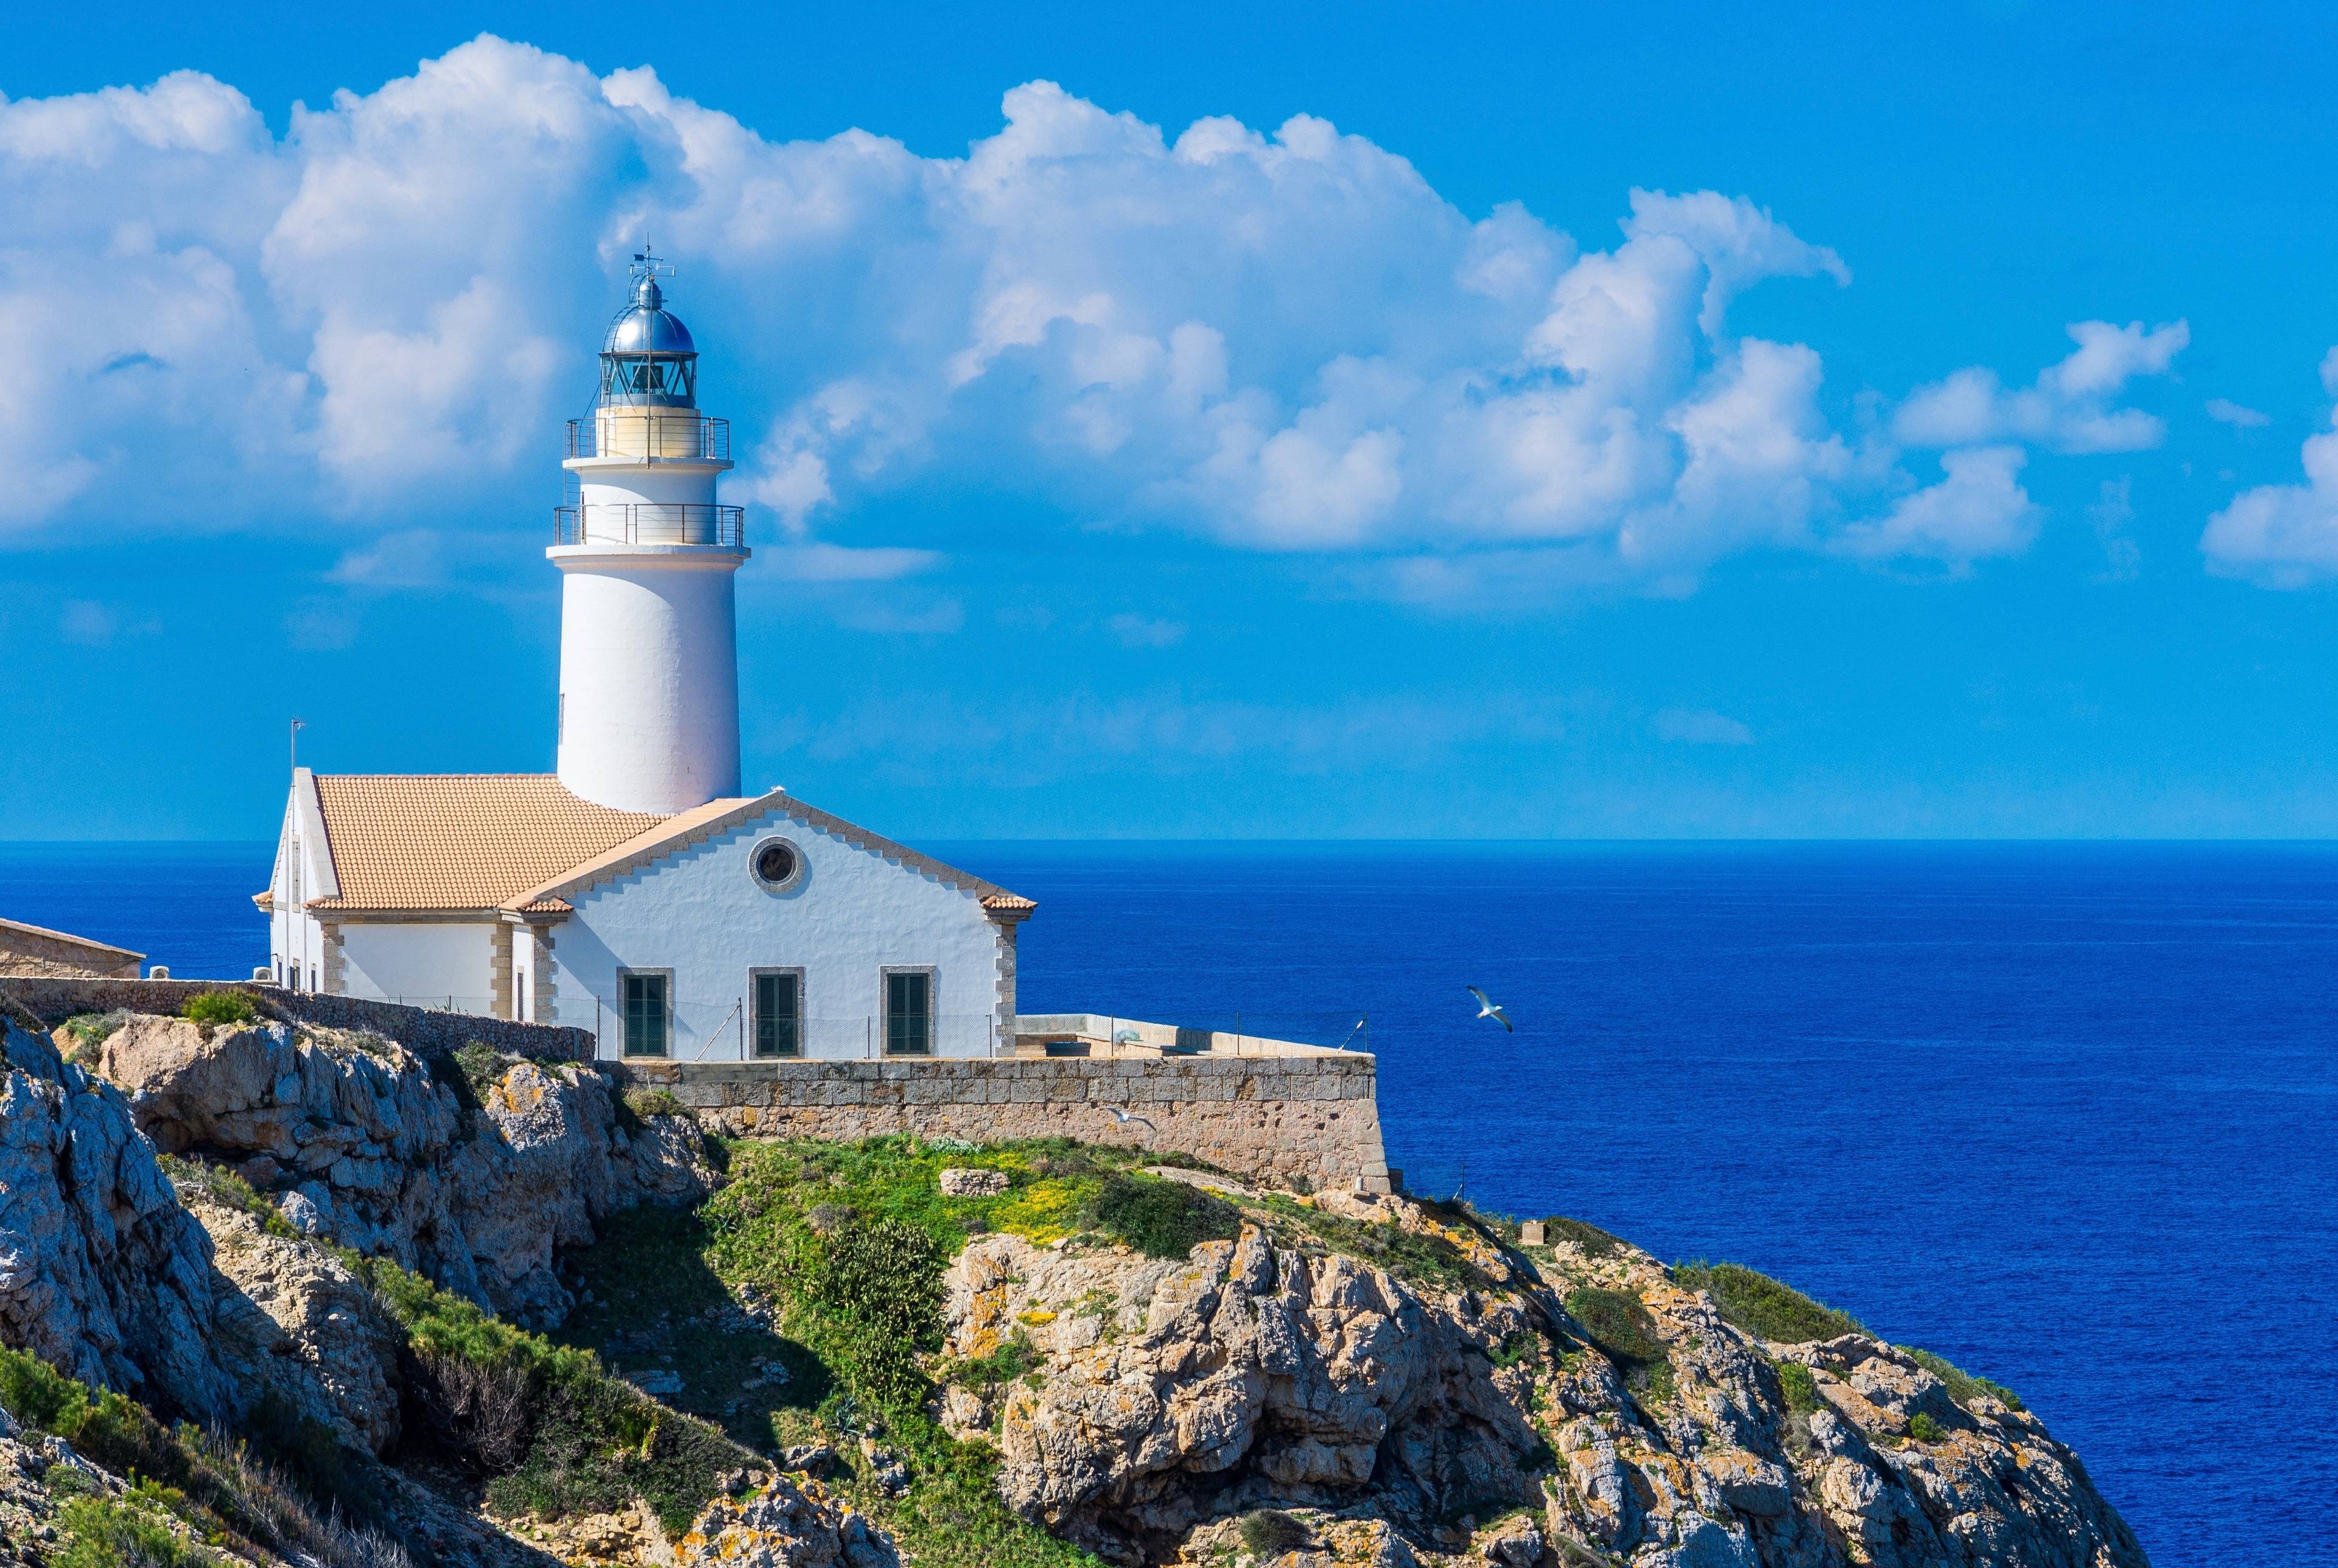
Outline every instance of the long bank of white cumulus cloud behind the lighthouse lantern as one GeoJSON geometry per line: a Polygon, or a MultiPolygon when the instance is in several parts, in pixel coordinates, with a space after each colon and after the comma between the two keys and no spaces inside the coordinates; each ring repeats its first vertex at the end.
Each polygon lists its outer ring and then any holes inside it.
{"type": "Polygon", "coordinates": [[[1424,601],[1686,591],[1749,549],[1962,566],[2036,530],[2029,449],[2160,439],[2125,395],[2188,337],[2078,322],[2032,386],[1959,369],[1852,437],[1821,353],[1730,315],[1852,271],[1744,196],[1620,194],[1620,231],[1583,245],[1515,203],[1473,220],[1309,115],[1171,136],[1052,82],[1001,110],[959,159],[767,140],[652,70],[498,37],[281,140],[194,72],[0,100],[0,353],[33,367],[0,383],[0,442],[35,453],[0,528],[157,472],[229,498],[206,526],[526,516],[643,238],[736,423],[732,495],[828,582],[921,570],[935,540],[818,535],[938,477],[1358,556],[1424,601]],[[1910,451],[1941,453],[1934,484],[1910,451]]]}

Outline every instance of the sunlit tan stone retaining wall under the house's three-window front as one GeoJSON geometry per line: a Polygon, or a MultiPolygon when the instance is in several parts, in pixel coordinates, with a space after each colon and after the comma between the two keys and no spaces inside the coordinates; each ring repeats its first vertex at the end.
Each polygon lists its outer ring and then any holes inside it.
{"type": "Polygon", "coordinates": [[[671,1089],[741,1138],[1080,1138],[1183,1152],[1270,1182],[1389,1189],[1377,1063],[1361,1052],[601,1066],[671,1089]],[[1155,1131],[1113,1122],[1108,1105],[1155,1131]]]}

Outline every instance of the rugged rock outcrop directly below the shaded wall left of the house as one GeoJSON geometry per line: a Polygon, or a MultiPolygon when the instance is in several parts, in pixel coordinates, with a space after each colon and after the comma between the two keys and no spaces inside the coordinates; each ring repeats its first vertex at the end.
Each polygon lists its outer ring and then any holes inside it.
{"type": "Polygon", "coordinates": [[[610,1210],[706,1189],[694,1124],[627,1126],[575,1066],[498,1061],[465,1096],[468,1080],[379,1035],[138,1017],[98,1070],[159,1147],[229,1164],[309,1234],[521,1323],[570,1306],[554,1248],[589,1243],[610,1210]]]}

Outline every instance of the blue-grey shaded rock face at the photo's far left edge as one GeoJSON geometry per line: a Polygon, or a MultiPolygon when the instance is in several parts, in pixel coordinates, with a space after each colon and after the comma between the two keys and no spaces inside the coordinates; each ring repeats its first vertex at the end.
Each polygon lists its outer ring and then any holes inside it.
{"type": "Polygon", "coordinates": [[[168,1414],[236,1404],[210,1239],[110,1084],[0,1024],[0,1344],[168,1414]]]}

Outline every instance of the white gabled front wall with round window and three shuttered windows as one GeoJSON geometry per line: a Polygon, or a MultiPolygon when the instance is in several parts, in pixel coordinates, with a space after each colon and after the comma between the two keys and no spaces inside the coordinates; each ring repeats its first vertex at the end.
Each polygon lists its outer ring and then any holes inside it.
{"type": "Polygon", "coordinates": [[[802,970],[807,1056],[884,1052],[886,967],[933,970],[935,1054],[994,1049],[1001,944],[980,897],[783,811],[570,902],[575,914],[552,928],[556,1017],[545,1021],[599,1028],[603,1056],[622,1045],[620,970],[671,970],[678,1061],[736,1061],[741,1042],[753,1052],[741,1002],[758,967],[802,970]],[[804,860],[783,893],[750,874],[755,848],[772,837],[804,860]]]}

